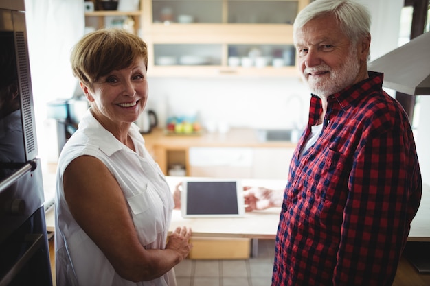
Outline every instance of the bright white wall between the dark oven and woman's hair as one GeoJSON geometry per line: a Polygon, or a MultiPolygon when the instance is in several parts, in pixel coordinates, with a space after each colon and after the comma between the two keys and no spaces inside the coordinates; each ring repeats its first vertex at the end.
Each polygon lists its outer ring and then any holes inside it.
{"type": "Polygon", "coordinates": [[[75,91],[69,58],[71,47],[84,34],[84,5],[76,0],[25,0],[25,21],[38,151],[46,163],[58,158],[56,132],[52,133],[56,128],[46,121],[46,106],[54,99],[70,98],[75,91]]]}

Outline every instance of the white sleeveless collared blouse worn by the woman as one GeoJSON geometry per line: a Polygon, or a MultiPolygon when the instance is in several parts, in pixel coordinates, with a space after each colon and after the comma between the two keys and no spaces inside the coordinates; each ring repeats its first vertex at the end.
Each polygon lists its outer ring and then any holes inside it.
{"type": "Polygon", "coordinates": [[[120,277],[98,246],[73,219],[65,201],[63,174],[67,165],[78,156],[94,156],[102,160],[120,184],[142,246],[147,249],[165,248],[174,208],[172,193],[134,124],[129,135],[136,152],[115,139],[88,110],[78,130],[63,147],[58,159],[55,199],[57,285],[176,285],[173,270],[155,280],[139,283],[120,277]]]}

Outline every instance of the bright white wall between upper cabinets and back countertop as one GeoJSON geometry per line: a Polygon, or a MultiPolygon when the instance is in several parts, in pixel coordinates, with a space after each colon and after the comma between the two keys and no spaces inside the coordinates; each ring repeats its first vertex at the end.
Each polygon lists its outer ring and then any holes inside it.
{"type": "Polygon", "coordinates": [[[310,95],[299,78],[149,78],[148,108],[159,126],[172,115],[199,114],[203,126],[304,126],[310,95]]]}

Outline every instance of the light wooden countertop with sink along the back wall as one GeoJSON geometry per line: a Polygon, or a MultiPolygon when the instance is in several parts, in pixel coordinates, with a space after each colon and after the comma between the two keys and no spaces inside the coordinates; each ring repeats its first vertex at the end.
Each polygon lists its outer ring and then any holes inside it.
{"type": "Polygon", "coordinates": [[[156,128],[148,134],[143,134],[147,145],[163,147],[295,147],[290,141],[260,141],[256,129],[231,128],[226,133],[201,134],[168,134],[165,130],[156,128]]]}

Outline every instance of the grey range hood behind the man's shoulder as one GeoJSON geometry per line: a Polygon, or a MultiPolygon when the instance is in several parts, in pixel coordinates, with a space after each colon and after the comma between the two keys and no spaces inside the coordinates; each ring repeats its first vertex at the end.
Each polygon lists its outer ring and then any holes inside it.
{"type": "Polygon", "coordinates": [[[383,86],[409,95],[430,95],[430,32],[369,63],[384,73],[383,86]]]}

